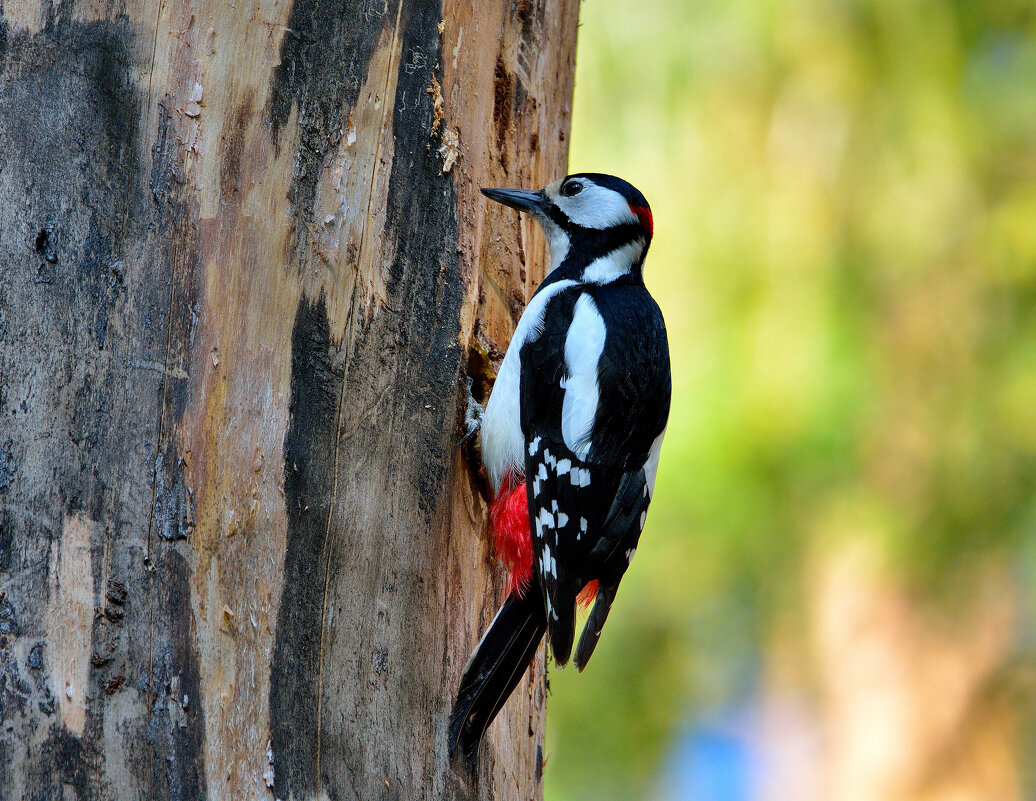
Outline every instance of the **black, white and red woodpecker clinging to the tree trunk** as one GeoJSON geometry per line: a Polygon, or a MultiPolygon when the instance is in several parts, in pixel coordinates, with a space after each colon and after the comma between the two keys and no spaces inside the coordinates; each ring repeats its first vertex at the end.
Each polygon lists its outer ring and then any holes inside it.
{"type": "Polygon", "coordinates": [[[490,524],[508,598],[464,668],[450,749],[470,765],[544,633],[582,669],[637,548],[669,416],[665,323],[643,282],[648,201],[611,175],[484,189],[533,214],[551,268],[515,328],[482,420],[490,524]]]}

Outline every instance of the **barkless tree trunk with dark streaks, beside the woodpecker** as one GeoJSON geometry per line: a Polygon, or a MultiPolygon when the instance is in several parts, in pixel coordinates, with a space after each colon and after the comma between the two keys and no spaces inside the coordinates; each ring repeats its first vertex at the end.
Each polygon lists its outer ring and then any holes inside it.
{"type": "Polygon", "coordinates": [[[447,763],[503,593],[456,442],[577,11],[0,5],[0,798],[541,794],[542,659],[447,763]]]}

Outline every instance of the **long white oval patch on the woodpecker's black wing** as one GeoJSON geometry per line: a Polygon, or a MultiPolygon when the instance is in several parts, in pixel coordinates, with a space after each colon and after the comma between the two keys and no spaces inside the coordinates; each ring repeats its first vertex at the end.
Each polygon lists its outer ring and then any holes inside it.
{"type": "MultiPolygon", "coordinates": [[[[565,339],[565,365],[569,378],[565,382],[562,405],[562,436],[578,459],[585,459],[589,453],[589,434],[597,419],[601,395],[597,366],[604,352],[605,335],[604,318],[597,310],[597,304],[588,294],[581,294],[576,301],[572,324],[565,339]]],[[[576,483],[574,474],[573,469],[573,484],[576,483]]],[[[587,475],[587,484],[588,478],[587,475]]]]}

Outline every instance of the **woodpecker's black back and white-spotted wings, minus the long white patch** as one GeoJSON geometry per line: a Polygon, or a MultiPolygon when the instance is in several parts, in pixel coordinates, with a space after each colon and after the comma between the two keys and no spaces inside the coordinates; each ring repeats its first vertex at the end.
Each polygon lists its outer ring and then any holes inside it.
{"type": "Polygon", "coordinates": [[[643,527],[651,500],[644,464],[669,413],[669,352],[658,306],[643,286],[633,283],[559,292],[544,319],[540,337],[521,351],[533,570],[558,664],[572,652],[576,596],[587,582],[599,581],[597,603],[576,653],[581,669],[643,527]],[[597,413],[583,444],[588,450],[580,442],[566,444],[562,423],[571,377],[566,339],[584,293],[606,331],[598,364],[597,413]]]}

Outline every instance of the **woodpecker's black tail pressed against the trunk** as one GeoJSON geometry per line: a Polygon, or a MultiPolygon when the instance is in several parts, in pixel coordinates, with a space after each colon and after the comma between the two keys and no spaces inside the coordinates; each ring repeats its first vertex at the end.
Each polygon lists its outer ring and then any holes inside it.
{"type": "Polygon", "coordinates": [[[547,629],[539,587],[512,592],[464,667],[450,715],[450,756],[463,754],[473,769],[479,745],[511,695],[547,629]]]}

